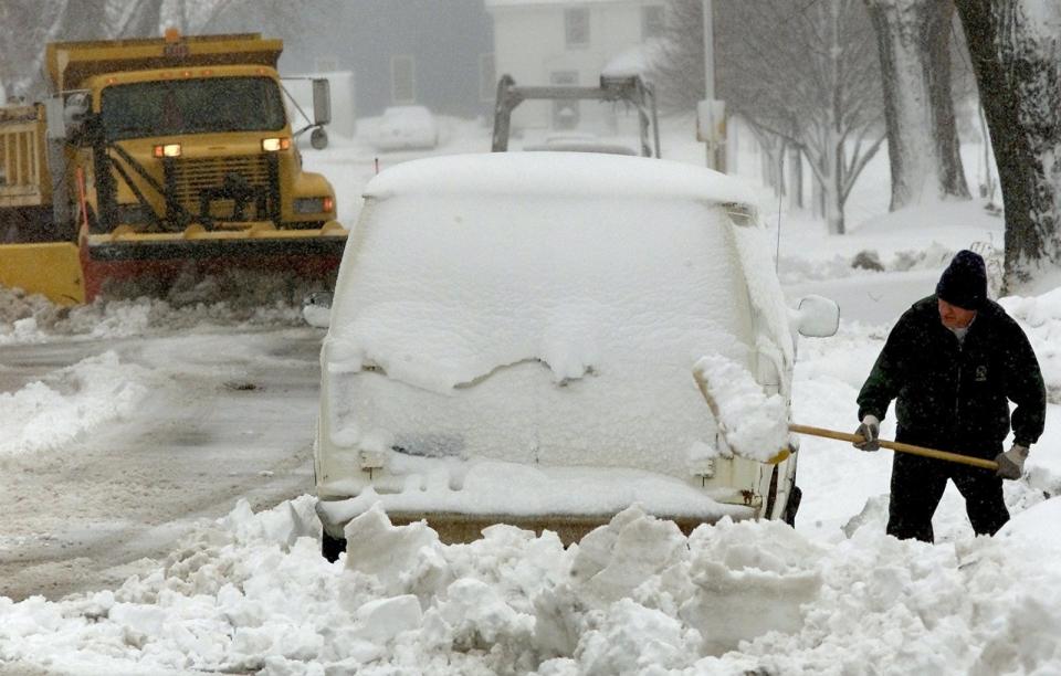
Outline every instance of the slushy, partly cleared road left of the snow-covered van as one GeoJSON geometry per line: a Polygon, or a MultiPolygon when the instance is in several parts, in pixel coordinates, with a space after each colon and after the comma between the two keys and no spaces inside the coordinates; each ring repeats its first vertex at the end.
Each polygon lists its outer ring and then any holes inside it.
{"type": "Polygon", "coordinates": [[[238,497],[312,489],[321,331],[3,348],[0,595],[114,585],[238,497]]]}

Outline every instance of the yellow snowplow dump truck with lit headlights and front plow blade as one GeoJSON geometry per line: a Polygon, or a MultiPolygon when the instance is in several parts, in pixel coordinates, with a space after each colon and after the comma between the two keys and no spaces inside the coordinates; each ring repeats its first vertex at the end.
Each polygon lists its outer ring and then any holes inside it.
{"type": "MultiPolygon", "coordinates": [[[[55,303],[242,270],[327,279],[347,231],[256,33],[48,45],[54,95],[0,107],[0,285],[55,303]]],[[[122,295],[120,292],[116,295],[122,295]]]]}

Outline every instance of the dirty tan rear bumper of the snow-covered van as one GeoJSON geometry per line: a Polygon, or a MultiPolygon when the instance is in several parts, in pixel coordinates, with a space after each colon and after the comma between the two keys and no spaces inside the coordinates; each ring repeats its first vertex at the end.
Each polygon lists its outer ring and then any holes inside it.
{"type": "MultiPolygon", "coordinates": [[[[328,505],[329,500],[318,500],[316,505],[317,516],[321,519],[324,531],[333,538],[344,539],[345,536],[343,528],[346,526],[346,522],[348,522],[349,519],[344,521],[336,519],[335,515],[333,515],[328,509],[328,505]]],[[[723,518],[723,516],[728,516],[734,520],[754,519],[756,516],[756,508],[754,506],[727,505],[726,507],[727,509],[725,510],[725,514],[716,514],[713,516],[656,515],[656,517],[674,521],[682,532],[687,536],[697,526],[703,524],[714,524],[723,518]]],[[[449,511],[387,513],[387,518],[390,519],[390,522],[393,526],[406,526],[421,520],[427,521],[428,526],[439,534],[439,539],[441,539],[443,542],[472,542],[483,537],[484,528],[489,528],[490,526],[496,524],[505,524],[508,526],[515,526],[516,528],[522,528],[524,530],[533,530],[538,535],[542,535],[543,530],[551,530],[559,536],[565,547],[571,545],[572,542],[578,542],[595,528],[607,526],[614,516],[614,514],[610,513],[587,515],[551,514],[536,516],[461,514],[449,511]]]]}

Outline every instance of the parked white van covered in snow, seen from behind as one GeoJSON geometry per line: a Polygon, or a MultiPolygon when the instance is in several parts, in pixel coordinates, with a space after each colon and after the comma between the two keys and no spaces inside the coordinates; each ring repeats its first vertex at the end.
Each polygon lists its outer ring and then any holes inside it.
{"type": "Polygon", "coordinates": [[[723,356],[787,415],[801,315],[752,204],[707,169],[595,154],[372,179],[321,355],[325,553],[376,504],[454,541],[495,522],[570,541],[634,503],[685,529],[784,517],[796,454],[731,452],[693,377],[723,356]]]}

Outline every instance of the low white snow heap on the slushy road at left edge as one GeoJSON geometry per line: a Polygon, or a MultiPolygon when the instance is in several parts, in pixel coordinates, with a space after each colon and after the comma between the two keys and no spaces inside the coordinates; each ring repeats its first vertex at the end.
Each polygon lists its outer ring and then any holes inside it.
{"type": "Polygon", "coordinates": [[[147,395],[151,373],[105,352],[0,392],[0,458],[55,448],[128,416],[147,395]]]}

